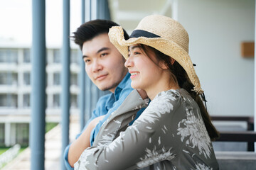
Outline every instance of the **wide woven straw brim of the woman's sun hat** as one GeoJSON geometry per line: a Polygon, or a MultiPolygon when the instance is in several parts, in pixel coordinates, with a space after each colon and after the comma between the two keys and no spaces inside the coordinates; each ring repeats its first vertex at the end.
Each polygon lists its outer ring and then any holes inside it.
{"type": "Polygon", "coordinates": [[[200,81],[196,75],[196,71],[193,67],[191,58],[188,55],[188,52],[183,50],[182,47],[176,44],[171,40],[166,40],[164,38],[129,38],[128,40],[124,39],[124,32],[121,26],[114,26],[110,28],[109,31],[110,42],[117,47],[117,50],[122,54],[122,56],[127,59],[128,57],[128,47],[130,45],[144,44],[150,47],[154,47],[156,50],[163,52],[165,55],[169,55],[176,62],[181,64],[181,67],[185,69],[188,74],[188,78],[191,80],[191,83],[194,85],[193,91],[197,94],[202,94],[203,90],[201,89],[200,81]]]}

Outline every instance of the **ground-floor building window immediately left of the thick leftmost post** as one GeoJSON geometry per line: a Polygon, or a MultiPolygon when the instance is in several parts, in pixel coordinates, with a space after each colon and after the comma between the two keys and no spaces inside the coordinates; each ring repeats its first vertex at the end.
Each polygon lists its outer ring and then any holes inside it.
{"type": "Polygon", "coordinates": [[[29,124],[16,123],[16,143],[21,146],[28,146],[29,124]]]}

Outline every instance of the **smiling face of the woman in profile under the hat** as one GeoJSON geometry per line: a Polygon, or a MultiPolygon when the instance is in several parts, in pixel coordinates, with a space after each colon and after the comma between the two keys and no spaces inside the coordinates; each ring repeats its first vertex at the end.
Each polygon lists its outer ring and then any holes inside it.
{"type": "Polygon", "coordinates": [[[153,90],[158,87],[164,69],[159,67],[159,61],[151,50],[144,52],[139,45],[129,47],[129,57],[124,66],[129,69],[132,88],[153,90]],[[147,55],[146,55],[147,53],[147,55]]]}

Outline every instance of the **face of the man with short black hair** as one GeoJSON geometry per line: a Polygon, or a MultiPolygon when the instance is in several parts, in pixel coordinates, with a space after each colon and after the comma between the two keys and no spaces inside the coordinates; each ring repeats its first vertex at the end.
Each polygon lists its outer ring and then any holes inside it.
{"type": "Polygon", "coordinates": [[[127,74],[124,57],[112,45],[107,33],[97,35],[82,45],[85,71],[92,82],[102,91],[114,89],[127,74]]]}

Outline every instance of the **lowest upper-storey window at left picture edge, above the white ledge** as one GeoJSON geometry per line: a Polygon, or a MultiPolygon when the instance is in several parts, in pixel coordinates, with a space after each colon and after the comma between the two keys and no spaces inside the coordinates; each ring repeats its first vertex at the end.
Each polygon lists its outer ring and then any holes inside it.
{"type": "Polygon", "coordinates": [[[0,94],[0,107],[14,107],[18,106],[18,96],[16,94],[0,94]]]}

